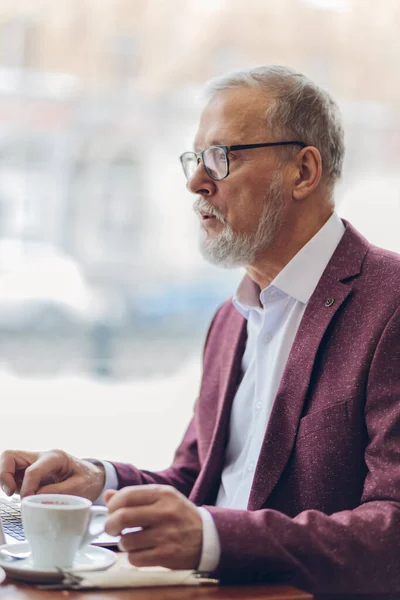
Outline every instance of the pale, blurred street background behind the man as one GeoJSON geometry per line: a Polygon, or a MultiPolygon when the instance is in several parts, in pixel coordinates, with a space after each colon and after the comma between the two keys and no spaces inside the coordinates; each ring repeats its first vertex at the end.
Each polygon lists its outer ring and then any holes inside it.
{"type": "Polygon", "coordinates": [[[338,212],[400,251],[399,61],[398,0],[0,0],[0,450],[170,461],[241,277],[201,258],[178,160],[212,76],[328,88],[338,212]]]}

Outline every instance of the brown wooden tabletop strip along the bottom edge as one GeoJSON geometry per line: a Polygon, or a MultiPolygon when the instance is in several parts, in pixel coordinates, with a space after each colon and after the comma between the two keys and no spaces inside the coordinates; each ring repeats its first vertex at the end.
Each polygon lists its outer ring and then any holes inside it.
{"type": "Polygon", "coordinates": [[[163,587],[130,590],[55,592],[6,579],[0,600],[311,600],[312,596],[287,585],[163,587]]]}

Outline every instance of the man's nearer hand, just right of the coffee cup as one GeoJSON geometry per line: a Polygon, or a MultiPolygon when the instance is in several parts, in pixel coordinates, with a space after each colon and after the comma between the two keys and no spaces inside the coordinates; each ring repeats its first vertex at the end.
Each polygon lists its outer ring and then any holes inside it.
{"type": "Polygon", "coordinates": [[[138,485],[105,492],[110,516],[106,532],[120,535],[120,548],[137,567],[197,569],[203,541],[196,506],[173,487],[138,485]],[[124,529],[141,531],[123,533],[124,529]]]}

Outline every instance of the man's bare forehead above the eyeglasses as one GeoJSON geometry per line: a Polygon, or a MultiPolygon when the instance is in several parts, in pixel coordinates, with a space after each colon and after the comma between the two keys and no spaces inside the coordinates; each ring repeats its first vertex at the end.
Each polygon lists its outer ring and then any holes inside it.
{"type": "MultiPolygon", "coordinates": [[[[265,135],[264,117],[269,101],[254,88],[219,92],[203,109],[194,140],[195,150],[213,144],[239,144],[249,136],[265,135]]],[[[251,140],[252,141],[252,140],[251,140]]]]}

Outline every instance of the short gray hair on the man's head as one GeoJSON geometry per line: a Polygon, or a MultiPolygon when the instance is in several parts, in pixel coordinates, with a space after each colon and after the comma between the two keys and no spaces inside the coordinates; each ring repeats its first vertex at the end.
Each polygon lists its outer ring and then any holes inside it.
{"type": "Polygon", "coordinates": [[[219,92],[236,87],[258,88],[268,99],[272,97],[265,115],[272,135],[315,146],[321,153],[323,178],[332,185],[340,179],[343,127],[339,108],[327,91],[290,67],[263,65],[211,79],[206,98],[212,100],[219,92]]]}

